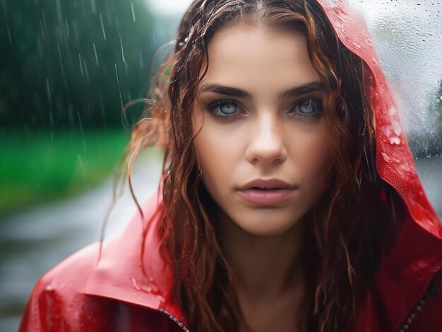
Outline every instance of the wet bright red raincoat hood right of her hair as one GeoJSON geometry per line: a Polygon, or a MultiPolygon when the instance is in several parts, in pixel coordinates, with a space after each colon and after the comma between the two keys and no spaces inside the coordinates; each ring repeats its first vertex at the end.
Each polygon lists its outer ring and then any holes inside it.
{"type": "Polygon", "coordinates": [[[318,3],[327,13],[342,44],[364,60],[371,70],[372,76],[367,84],[376,119],[376,168],[380,177],[398,191],[413,220],[431,235],[442,239],[441,223],[422,189],[398,109],[364,20],[352,13],[347,1],[318,0],[318,3]]]}

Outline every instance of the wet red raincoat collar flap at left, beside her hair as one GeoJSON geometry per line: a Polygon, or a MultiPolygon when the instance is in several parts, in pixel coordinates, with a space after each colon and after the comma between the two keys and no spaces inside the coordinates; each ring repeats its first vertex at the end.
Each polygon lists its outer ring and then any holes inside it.
{"type": "Polygon", "coordinates": [[[162,312],[186,331],[186,319],[172,295],[171,266],[160,254],[159,192],[142,206],[144,218],[136,213],[119,237],[104,241],[83,292],[162,312]]]}

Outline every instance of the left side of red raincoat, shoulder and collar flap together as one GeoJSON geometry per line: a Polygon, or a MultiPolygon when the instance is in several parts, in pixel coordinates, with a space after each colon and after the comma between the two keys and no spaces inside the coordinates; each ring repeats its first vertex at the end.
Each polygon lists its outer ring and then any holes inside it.
{"type": "Polygon", "coordinates": [[[45,273],[19,331],[182,331],[165,314],[180,311],[169,304],[171,274],[158,254],[158,206],[149,200],[145,218],[137,213],[119,237],[91,244],[45,273]],[[144,268],[142,247],[149,250],[144,268]]]}

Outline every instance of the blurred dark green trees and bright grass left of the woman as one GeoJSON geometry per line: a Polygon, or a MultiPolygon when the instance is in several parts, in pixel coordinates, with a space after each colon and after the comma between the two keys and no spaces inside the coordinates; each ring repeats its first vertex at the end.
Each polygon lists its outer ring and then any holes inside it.
{"type": "Polygon", "coordinates": [[[121,103],[148,95],[153,54],[172,39],[145,2],[0,1],[0,215],[114,172],[129,140],[121,103]]]}

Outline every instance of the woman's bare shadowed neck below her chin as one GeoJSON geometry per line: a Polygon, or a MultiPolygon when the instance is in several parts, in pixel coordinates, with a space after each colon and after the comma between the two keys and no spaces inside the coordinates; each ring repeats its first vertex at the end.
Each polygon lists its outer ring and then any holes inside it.
{"type": "Polygon", "coordinates": [[[252,235],[227,216],[220,218],[225,257],[239,297],[273,301],[303,287],[304,220],[280,235],[252,235]]]}

